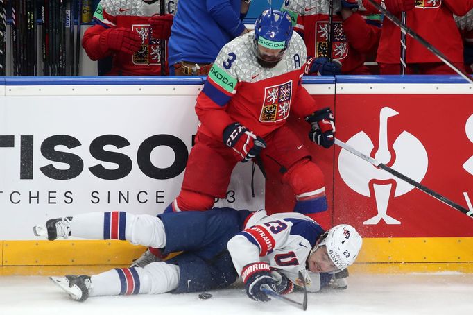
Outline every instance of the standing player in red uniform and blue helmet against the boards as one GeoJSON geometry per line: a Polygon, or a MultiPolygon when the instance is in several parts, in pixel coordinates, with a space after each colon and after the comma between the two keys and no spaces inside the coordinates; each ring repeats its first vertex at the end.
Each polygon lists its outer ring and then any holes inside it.
{"type": "Polygon", "coordinates": [[[200,120],[178,198],[165,212],[204,211],[226,194],[236,163],[273,164],[292,188],[294,211],[327,210],[324,176],[286,119],[303,117],[310,139],[334,144],[334,114],[302,87],[306,49],[286,12],[266,10],[255,32],[223,46],[197,98],[200,120]]]}

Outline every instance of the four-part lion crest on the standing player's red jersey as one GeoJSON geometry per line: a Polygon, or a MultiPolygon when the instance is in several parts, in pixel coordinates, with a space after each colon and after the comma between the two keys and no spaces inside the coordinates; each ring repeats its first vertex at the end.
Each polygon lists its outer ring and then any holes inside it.
{"type": "Polygon", "coordinates": [[[289,116],[292,96],[292,80],[264,89],[264,104],[259,121],[280,121],[289,116]]]}

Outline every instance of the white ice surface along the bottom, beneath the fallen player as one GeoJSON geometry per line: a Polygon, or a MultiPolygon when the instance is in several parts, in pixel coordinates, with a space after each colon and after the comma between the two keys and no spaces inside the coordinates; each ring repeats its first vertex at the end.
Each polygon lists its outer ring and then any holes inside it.
{"type": "MultiPolygon", "coordinates": [[[[246,297],[241,283],[198,293],[155,296],[92,297],[70,300],[46,277],[0,277],[0,315],[141,315],[141,314],[473,314],[473,275],[463,273],[355,274],[345,291],[309,293],[307,312],[280,300],[258,303],[246,297]]],[[[302,294],[288,297],[302,301],[302,294]]]]}

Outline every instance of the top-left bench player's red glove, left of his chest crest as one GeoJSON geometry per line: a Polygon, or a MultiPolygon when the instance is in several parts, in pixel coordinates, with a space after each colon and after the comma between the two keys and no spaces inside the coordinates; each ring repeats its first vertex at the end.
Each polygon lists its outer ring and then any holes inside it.
{"type": "Polygon", "coordinates": [[[112,51],[121,51],[132,55],[141,48],[141,37],[128,28],[109,28],[100,35],[100,44],[112,51]]]}

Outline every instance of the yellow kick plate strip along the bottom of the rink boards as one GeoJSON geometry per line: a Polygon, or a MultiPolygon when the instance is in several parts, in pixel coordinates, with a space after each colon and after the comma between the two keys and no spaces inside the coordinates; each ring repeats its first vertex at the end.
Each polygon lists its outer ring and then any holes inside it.
{"type": "MultiPolygon", "coordinates": [[[[128,241],[0,241],[0,275],[94,274],[130,266],[146,250],[128,241]]],[[[473,237],[365,238],[350,271],[473,273],[473,237]]]]}

